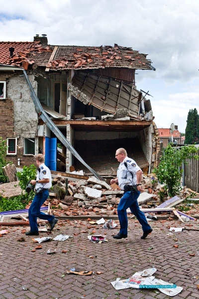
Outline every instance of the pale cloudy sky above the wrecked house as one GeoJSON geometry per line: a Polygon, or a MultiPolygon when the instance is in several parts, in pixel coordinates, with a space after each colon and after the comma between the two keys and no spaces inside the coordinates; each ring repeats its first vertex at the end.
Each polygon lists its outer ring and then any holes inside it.
{"type": "Polygon", "coordinates": [[[156,71],[136,71],[155,123],[185,132],[199,99],[199,0],[0,0],[0,40],[132,47],[156,71]]]}

